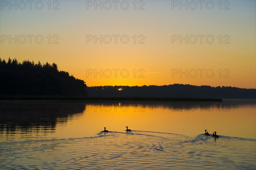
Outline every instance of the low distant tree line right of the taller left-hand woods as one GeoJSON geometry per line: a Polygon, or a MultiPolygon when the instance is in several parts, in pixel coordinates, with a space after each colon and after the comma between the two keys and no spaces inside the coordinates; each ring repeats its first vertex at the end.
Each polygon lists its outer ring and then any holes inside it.
{"type": "Polygon", "coordinates": [[[256,89],[236,87],[211,87],[208,85],[143,85],[143,86],[93,86],[88,87],[93,97],[171,97],[171,98],[221,98],[256,99],[256,89]]]}

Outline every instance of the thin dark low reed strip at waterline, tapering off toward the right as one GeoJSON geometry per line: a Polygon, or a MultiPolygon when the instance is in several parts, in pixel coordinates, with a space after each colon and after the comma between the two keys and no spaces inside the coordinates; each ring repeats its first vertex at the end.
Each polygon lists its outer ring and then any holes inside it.
{"type": "Polygon", "coordinates": [[[218,98],[192,97],[83,97],[83,96],[0,96],[0,100],[84,100],[84,101],[205,101],[222,102],[218,98]]]}

